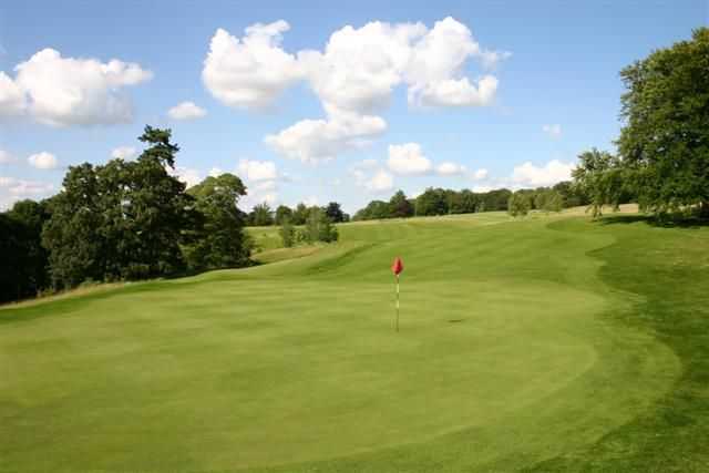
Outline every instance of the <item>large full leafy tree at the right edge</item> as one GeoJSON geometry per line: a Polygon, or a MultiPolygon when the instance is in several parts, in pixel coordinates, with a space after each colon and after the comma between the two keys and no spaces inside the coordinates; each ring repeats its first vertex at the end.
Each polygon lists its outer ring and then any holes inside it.
{"type": "Polygon", "coordinates": [[[709,215],[709,29],[620,72],[618,150],[638,204],[653,212],[698,205],[709,215]]]}

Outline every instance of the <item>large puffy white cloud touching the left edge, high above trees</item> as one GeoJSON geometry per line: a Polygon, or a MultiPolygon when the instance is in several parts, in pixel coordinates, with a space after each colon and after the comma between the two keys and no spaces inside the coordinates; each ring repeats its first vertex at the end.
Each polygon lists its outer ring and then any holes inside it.
{"type": "Polygon", "coordinates": [[[124,88],[152,79],[140,64],[117,59],[62,58],[44,49],[0,73],[0,116],[29,115],[51,126],[129,123],[133,104],[124,88]]]}

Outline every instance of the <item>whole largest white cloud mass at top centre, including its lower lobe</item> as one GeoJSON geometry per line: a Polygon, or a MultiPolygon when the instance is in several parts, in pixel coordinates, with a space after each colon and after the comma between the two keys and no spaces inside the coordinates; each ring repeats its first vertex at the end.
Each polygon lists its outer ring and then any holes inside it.
{"type": "Polygon", "coordinates": [[[281,48],[287,22],[257,23],[243,39],[217,30],[203,80],[212,94],[236,107],[263,107],[288,85],[306,81],[326,116],[301,120],[265,137],[277,153],[318,163],[370,143],[387,130],[377,115],[398,86],[409,103],[423,106],[484,106],[493,102],[497,79],[465,76],[470,59],[491,69],[510,53],[483,50],[470,29],[453,18],[423,23],[372,21],[335,31],[322,51],[296,54],[281,48]]]}

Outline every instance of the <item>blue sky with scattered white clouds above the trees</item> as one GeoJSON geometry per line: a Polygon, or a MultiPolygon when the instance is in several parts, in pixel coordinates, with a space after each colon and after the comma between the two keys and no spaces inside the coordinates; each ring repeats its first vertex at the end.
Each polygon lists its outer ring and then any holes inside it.
{"type": "Polygon", "coordinates": [[[0,208],[135,158],[146,124],[246,209],[552,185],[614,150],[619,71],[708,24],[707,0],[6,1],[0,208]]]}

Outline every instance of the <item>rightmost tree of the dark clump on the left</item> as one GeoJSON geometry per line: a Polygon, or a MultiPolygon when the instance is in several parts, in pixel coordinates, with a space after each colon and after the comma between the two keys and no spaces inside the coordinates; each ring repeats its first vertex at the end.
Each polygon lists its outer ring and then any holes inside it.
{"type": "Polygon", "coordinates": [[[244,233],[244,214],[237,207],[239,198],[246,195],[242,179],[233,174],[207,177],[188,193],[203,218],[195,241],[185,245],[189,269],[246,266],[250,248],[244,233]]]}

